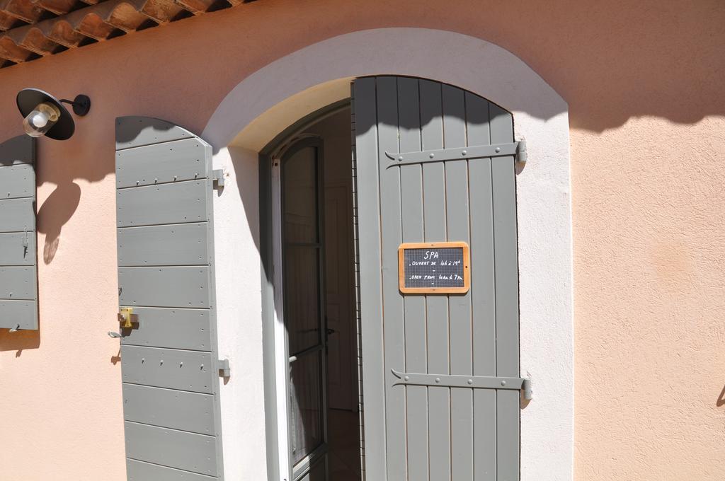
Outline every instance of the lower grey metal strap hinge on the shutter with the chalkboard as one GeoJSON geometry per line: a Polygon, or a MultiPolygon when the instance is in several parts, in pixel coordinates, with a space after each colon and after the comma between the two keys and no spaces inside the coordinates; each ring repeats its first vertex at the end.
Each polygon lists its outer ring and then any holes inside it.
{"type": "Polygon", "coordinates": [[[531,380],[524,377],[460,376],[397,372],[393,385],[441,386],[445,388],[509,389],[520,390],[527,401],[532,398],[531,380]]]}

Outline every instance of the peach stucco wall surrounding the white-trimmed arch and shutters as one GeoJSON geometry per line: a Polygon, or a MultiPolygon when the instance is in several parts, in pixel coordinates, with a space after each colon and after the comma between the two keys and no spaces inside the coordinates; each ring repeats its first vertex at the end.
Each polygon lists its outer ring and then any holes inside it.
{"type": "Polygon", "coordinates": [[[201,132],[265,64],[387,26],[497,43],[569,104],[575,479],[721,480],[724,25],[719,0],[259,0],[0,70],[3,140],[21,88],[94,101],[39,143],[41,329],[0,331],[0,480],[125,479],[115,117],[201,132]]]}

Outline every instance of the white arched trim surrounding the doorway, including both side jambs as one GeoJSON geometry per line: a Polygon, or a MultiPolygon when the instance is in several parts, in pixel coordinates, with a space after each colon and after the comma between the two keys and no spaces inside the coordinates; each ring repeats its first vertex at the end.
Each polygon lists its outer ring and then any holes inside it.
{"type": "MultiPolygon", "coordinates": [[[[254,177],[247,186],[256,192],[256,153],[266,143],[305,114],[349,96],[350,79],[384,74],[429,78],[477,93],[512,112],[515,135],[526,138],[529,162],[517,177],[521,374],[533,380],[534,400],[521,411],[521,480],[571,480],[568,106],[536,72],[500,46],[450,31],[381,28],[339,35],[262,67],[228,93],[202,133],[218,151],[215,168],[231,177],[230,190],[237,188],[236,177],[254,177]]],[[[262,385],[261,316],[254,311],[260,285],[252,282],[259,276],[234,267],[248,264],[256,250],[257,209],[249,192],[215,199],[217,259],[225,264],[217,269],[220,354],[237,366],[244,363],[237,376],[247,376],[244,389],[222,388],[225,472],[239,473],[234,479],[242,479],[245,469],[249,474],[249,464],[241,469],[245,459],[261,464],[265,456],[264,443],[255,437],[264,435],[262,389],[247,391],[262,385]],[[247,219],[248,225],[240,225],[247,219]],[[247,293],[241,296],[240,290],[247,293]]]]}

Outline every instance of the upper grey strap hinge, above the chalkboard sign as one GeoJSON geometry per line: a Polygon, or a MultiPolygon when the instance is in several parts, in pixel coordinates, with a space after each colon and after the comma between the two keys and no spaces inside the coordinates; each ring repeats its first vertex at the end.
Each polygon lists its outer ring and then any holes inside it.
{"type": "Polygon", "coordinates": [[[401,152],[399,154],[386,151],[385,155],[393,161],[386,165],[386,169],[396,165],[508,156],[515,156],[516,162],[526,162],[526,141],[522,139],[518,142],[494,143],[490,146],[452,147],[450,149],[401,152]]]}

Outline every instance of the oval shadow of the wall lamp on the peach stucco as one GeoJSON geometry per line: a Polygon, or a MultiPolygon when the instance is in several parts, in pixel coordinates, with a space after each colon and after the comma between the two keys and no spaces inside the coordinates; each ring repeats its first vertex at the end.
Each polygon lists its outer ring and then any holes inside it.
{"type": "Polygon", "coordinates": [[[61,183],[38,209],[38,232],[46,235],[43,262],[50,264],[58,250],[60,232],[80,202],[80,187],[74,182],[61,183]]]}

